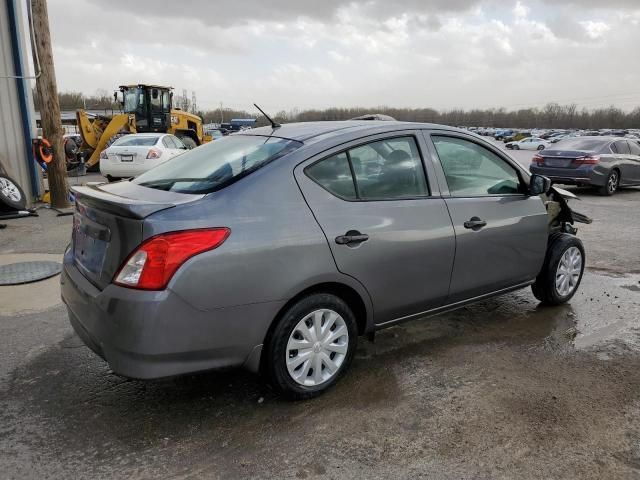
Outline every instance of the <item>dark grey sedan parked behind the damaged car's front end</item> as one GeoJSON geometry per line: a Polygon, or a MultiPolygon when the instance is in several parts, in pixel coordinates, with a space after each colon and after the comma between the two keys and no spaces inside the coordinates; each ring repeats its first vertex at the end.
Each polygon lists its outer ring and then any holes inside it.
{"type": "Polygon", "coordinates": [[[640,185],[640,144],[616,137],[574,137],[538,155],[529,167],[556,183],[591,185],[602,195],[640,185]]]}

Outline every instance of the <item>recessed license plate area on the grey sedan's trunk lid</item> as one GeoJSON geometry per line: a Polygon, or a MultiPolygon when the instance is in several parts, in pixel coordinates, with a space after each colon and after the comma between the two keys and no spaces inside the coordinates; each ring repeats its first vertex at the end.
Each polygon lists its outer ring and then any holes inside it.
{"type": "Polygon", "coordinates": [[[73,258],[76,265],[93,276],[99,276],[109,245],[110,231],[82,215],[73,216],[73,258]]]}

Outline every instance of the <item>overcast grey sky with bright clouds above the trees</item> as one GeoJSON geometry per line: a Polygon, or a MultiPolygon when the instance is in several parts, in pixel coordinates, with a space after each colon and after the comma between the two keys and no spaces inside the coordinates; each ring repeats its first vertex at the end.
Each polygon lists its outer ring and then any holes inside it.
{"type": "Polygon", "coordinates": [[[49,0],[58,87],[198,106],[640,105],[640,0],[49,0]]]}

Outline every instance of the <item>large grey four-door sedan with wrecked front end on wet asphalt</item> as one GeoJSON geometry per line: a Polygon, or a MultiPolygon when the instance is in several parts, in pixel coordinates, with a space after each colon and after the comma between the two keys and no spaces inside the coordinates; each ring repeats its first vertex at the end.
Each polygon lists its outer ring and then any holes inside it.
{"type": "Polygon", "coordinates": [[[529,285],[566,302],[585,265],[548,179],[439,125],[258,128],[74,191],[71,324],[138,379],[243,366],[308,398],[359,336],[529,285]]]}

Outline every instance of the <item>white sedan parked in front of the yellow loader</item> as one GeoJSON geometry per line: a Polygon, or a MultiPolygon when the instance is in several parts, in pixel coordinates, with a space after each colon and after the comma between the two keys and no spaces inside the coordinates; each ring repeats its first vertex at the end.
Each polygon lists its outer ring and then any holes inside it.
{"type": "Polygon", "coordinates": [[[100,153],[100,173],[110,182],[135,177],[186,151],[185,144],[175,135],[123,135],[100,153]]]}

